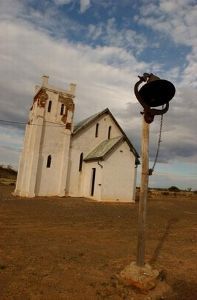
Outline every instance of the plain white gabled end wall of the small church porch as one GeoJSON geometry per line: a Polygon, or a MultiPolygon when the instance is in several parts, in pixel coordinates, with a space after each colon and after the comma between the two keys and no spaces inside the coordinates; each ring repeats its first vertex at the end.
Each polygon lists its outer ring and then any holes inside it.
{"type": "Polygon", "coordinates": [[[126,142],[122,143],[103,163],[103,201],[134,201],[135,156],[126,142]]]}

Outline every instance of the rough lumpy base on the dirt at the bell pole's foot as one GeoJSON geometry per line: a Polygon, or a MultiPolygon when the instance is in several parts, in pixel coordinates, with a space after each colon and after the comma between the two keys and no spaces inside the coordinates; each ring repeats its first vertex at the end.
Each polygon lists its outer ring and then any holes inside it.
{"type": "Polygon", "coordinates": [[[132,262],[121,271],[119,280],[125,286],[137,288],[141,293],[148,294],[150,299],[158,299],[171,291],[164,278],[161,278],[161,272],[149,264],[139,267],[136,262],[132,262]]]}

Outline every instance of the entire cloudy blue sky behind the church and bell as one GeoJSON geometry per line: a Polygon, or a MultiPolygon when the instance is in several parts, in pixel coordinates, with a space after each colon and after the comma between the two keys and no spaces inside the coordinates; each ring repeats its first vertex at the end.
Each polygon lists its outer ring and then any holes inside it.
{"type": "MultiPolygon", "coordinates": [[[[76,83],[75,122],[109,108],[140,153],[138,75],[171,81],[150,187],[197,190],[196,0],[1,0],[0,163],[18,166],[34,87],[43,74],[76,83]]],[[[150,125],[150,167],[160,117],[150,125]]],[[[138,170],[138,183],[140,169],[138,170]]]]}

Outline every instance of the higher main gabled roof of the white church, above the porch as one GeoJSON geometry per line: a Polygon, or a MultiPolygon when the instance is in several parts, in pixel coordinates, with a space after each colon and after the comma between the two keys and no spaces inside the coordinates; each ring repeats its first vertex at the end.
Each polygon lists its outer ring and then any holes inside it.
{"type": "MultiPolygon", "coordinates": [[[[120,127],[120,125],[118,124],[118,122],[116,121],[116,119],[114,118],[114,116],[112,115],[111,111],[109,110],[109,108],[104,109],[103,111],[94,114],[92,116],[90,116],[87,119],[82,120],[81,122],[79,122],[78,124],[76,124],[74,126],[74,131],[73,131],[73,136],[78,134],[79,132],[83,131],[83,129],[87,128],[88,126],[90,126],[92,123],[94,123],[97,119],[99,119],[102,115],[104,114],[108,114],[111,116],[111,118],[113,119],[113,121],[115,122],[115,124],[117,125],[117,127],[120,129],[121,133],[124,136],[124,139],[126,140],[127,144],[129,145],[131,151],[133,152],[133,154],[136,157],[136,163],[139,164],[139,154],[136,151],[136,149],[134,148],[134,146],[132,145],[132,143],[130,142],[129,138],[127,137],[127,135],[125,134],[125,132],[123,131],[123,129],[120,127]]],[[[108,140],[107,140],[108,141],[108,140]]]]}

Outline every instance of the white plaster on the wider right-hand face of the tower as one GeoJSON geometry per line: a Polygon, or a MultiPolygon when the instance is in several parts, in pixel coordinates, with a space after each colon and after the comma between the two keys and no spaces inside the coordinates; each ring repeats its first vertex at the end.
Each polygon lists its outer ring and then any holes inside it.
{"type": "MultiPolygon", "coordinates": [[[[65,129],[60,115],[62,103],[59,94],[47,91],[44,126],[40,144],[35,194],[40,196],[65,195],[68,155],[70,148],[70,130],[65,129]],[[52,101],[51,111],[48,103],[52,101]],[[47,158],[51,155],[51,167],[47,168],[47,158]],[[62,178],[64,176],[65,178],[62,178]]],[[[72,121],[72,112],[68,112],[67,122],[72,121]]]]}

